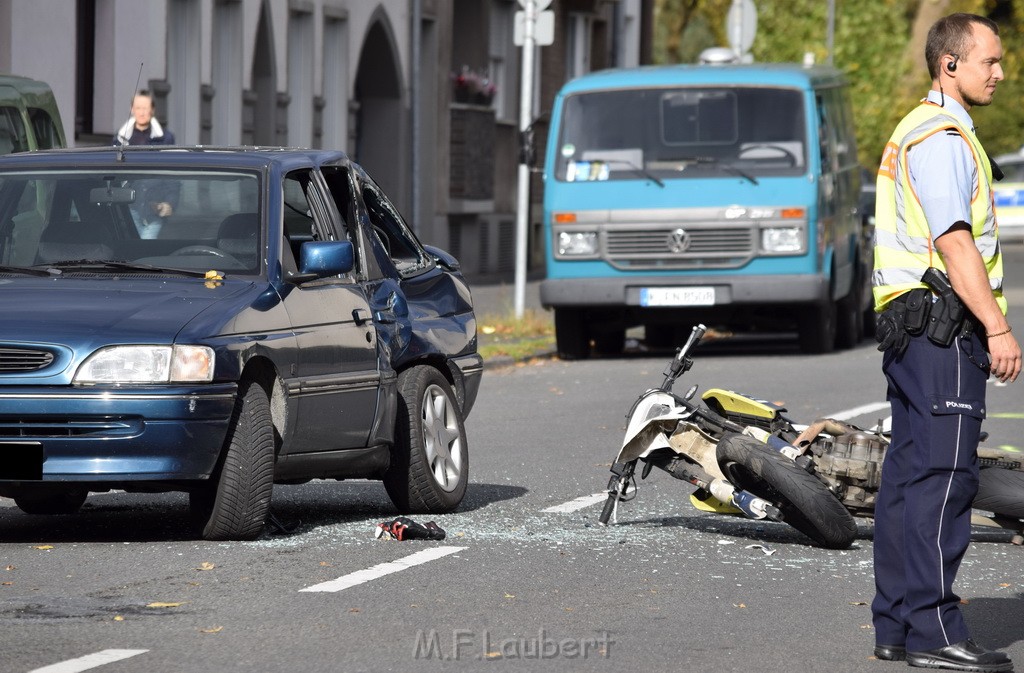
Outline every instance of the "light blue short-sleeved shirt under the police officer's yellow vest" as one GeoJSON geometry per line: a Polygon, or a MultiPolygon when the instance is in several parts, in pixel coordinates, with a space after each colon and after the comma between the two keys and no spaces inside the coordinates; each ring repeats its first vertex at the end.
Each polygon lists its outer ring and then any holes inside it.
{"type": "MultiPolygon", "coordinates": [[[[971,116],[949,96],[929,91],[928,100],[943,106],[965,128],[974,129],[971,116]]],[[[912,146],[907,155],[910,184],[921,200],[933,240],[949,230],[953,222],[971,223],[978,165],[969,142],[952,131],[935,133],[912,146]]]]}

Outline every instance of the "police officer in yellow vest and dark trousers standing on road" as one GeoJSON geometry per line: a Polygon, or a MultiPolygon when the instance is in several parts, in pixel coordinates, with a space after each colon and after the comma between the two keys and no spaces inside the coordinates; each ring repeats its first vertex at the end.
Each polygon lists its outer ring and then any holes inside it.
{"type": "Polygon", "coordinates": [[[929,31],[925,57],[932,90],[896,127],[878,176],[874,302],[892,444],[874,512],[874,655],[1010,671],[1006,655],[970,638],[952,590],[970,543],[985,381],[1014,381],[1021,369],[1001,292],[993,168],[969,115],[1002,79],[998,28],[948,15],[929,31]],[[930,267],[948,277],[966,317],[947,343],[928,327],[927,311],[944,313],[924,290],[930,267]]]}

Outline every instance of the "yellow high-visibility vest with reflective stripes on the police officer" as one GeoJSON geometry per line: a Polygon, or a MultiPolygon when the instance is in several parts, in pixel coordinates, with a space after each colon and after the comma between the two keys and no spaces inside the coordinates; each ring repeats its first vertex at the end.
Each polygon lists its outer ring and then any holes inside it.
{"type": "Polygon", "coordinates": [[[876,311],[885,310],[890,301],[904,292],[927,287],[921,277],[929,266],[946,270],[932,241],[925,211],[910,184],[907,152],[932,134],[949,130],[967,139],[974,154],[978,183],[971,200],[971,230],[988,270],[992,294],[1004,314],[1007,312],[1007,300],[1002,296],[1002,258],[992,201],[991,163],[974,132],[933,102],[923,102],[904,117],[882,154],[874,210],[872,282],[876,311]]]}

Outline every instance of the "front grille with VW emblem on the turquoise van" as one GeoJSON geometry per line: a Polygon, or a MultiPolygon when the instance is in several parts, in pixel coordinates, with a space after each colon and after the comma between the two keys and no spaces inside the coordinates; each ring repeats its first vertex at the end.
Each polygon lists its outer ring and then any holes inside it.
{"type": "Polygon", "coordinates": [[[659,226],[604,232],[606,258],[624,268],[729,268],[755,252],[750,226],[659,226]]]}

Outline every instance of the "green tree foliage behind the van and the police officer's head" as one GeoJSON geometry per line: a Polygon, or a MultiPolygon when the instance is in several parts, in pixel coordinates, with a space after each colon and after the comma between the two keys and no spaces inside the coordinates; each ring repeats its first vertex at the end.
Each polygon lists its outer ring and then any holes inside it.
{"type": "MultiPolygon", "coordinates": [[[[655,0],[654,59],[694,62],[701,50],[727,44],[732,0],[655,0]]],[[[756,61],[826,62],[828,0],[755,0],[756,61]]],[[[1000,28],[1006,81],[987,108],[971,115],[992,155],[1024,143],[1024,3],[1012,0],[835,0],[833,65],[850,80],[861,163],[878,164],[896,123],[931,86],[925,36],[936,18],[953,11],[987,15],[1000,28]]]]}

